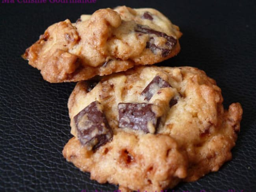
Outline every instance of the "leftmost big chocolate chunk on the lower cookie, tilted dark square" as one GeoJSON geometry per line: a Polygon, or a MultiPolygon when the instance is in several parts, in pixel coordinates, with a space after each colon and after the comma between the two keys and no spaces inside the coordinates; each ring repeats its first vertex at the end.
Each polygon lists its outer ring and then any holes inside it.
{"type": "Polygon", "coordinates": [[[78,140],[89,150],[96,150],[113,137],[102,108],[100,102],[95,101],[74,116],[78,140]]]}

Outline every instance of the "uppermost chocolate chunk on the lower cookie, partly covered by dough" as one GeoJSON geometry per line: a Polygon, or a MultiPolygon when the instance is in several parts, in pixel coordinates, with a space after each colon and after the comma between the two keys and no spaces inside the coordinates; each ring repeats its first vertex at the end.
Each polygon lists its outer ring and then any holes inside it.
{"type": "Polygon", "coordinates": [[[156,76],[141,92],[141,95],[145,96],[144,100],[149,101],[157,90],[163,87],[171,87],[171,85],[167,81],[163,80],[160,76],[156,76]]]}

